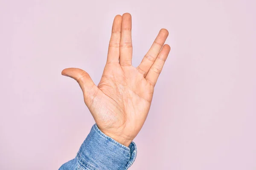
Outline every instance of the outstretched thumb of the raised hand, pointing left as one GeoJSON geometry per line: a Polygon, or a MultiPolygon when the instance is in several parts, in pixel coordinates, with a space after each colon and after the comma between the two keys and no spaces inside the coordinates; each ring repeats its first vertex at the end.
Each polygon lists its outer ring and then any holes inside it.
{"type": "Polygon", "coordinates": [[[79,83],[79,86],[84,94],[84,102],[87,107],[89,107],[99,91],[99,88],[94,84],[93,80],[90,78],[90,75],[80,68],[65,68],[61,74],[71,77],[79,83]]]}

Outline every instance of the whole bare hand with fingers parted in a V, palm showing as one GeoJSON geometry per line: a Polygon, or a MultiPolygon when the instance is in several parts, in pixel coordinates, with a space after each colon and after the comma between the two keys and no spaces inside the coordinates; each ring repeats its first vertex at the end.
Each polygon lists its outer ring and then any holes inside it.
{"type": "Polygon", "coordinates": [[[61,74],[76,79],[99,129],[129,146],[142,128],[153,97],[154,86],[170,51],[163,45],[168,31],[161,29],[140,65],[131,65],[131,15],[116,15],[108,58],[99,85],[87,72],[66,68],[61,74]]]}

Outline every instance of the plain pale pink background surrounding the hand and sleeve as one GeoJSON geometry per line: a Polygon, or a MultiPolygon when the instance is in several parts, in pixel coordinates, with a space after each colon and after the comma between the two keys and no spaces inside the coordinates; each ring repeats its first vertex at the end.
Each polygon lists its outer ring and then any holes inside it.
{"type": "Polygon", "coordinates": [[[172,51],[131,170],[256,170],[255,0],[0,0],[0,169],[57,170],[94,121],[67,67],[98,83],[116,14],[133,65],[160,28],[172,51]]]}

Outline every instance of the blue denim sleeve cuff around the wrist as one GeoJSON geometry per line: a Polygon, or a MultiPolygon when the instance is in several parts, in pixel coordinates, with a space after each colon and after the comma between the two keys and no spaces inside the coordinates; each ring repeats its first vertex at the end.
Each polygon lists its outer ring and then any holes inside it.
{"type": "Polygon", "coordinates": [[[126,147],[106,136],[95,124],[76,158],[63,164],[59,170],[127,170],[136,155],[134,142],[126,147]]]}

